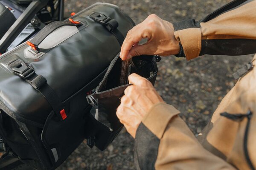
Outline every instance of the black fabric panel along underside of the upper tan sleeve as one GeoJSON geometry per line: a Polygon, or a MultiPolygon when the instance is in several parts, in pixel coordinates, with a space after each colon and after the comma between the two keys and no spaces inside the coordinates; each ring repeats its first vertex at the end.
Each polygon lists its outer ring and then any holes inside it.
{"type": "Polygon", "coordinates": [[[249,39],[202,40],[202,47],[199,55],[239,56],[255,54],[255,47],[256,40],[249,39]]]}

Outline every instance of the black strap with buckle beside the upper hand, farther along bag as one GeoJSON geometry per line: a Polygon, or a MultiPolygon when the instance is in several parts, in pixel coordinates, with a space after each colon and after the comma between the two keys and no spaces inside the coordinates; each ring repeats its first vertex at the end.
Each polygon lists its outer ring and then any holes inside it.
{"type": "Polygon", "coordinates": [[[108,31],[110,31],[118,40],[119,44],[122,46],[123,41],[125,40],[122,33],[117,29],[118,22],[110,17],[107,17],[105,14],[100,14],[94,12],[90,14],[90,18],[92,18],[95,22],[102,24],[105,26],[108,31]]]}

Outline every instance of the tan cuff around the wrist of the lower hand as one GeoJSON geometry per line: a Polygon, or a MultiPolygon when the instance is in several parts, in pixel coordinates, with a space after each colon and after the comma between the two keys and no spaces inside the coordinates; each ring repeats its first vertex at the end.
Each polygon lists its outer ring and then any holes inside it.
{"type": "Polygon", "coordinates": [[[154,135],[161,139],[170,119],[179,113],[180,111],[172,105],[158,103],[152,106],[142,122],[154,135]]]}

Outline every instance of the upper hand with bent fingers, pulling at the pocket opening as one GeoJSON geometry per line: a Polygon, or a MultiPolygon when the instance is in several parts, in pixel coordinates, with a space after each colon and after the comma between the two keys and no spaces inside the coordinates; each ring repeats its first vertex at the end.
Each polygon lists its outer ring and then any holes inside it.
{"type": "Polygon", "coordinates": [[[179,51],[180,46],[174,37],[172,23],[151,14],[142,23],[128,31],[122,44],[120,58],[126,60],[143,54],[169,56],[178,54],[179,51]],[[143,38],[148,38],[148,42],[138,45],[143,38]]]}

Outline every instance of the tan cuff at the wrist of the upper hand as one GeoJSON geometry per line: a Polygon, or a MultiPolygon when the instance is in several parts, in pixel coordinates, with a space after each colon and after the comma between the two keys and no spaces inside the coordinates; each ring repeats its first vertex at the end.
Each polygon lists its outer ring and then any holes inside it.
{"type": "Polygon", "coordinates": [[[186,59],[199,56],[201,51],[201,28],[186,28],[175,31],[175,38],[181,43],[186,59]]]}

